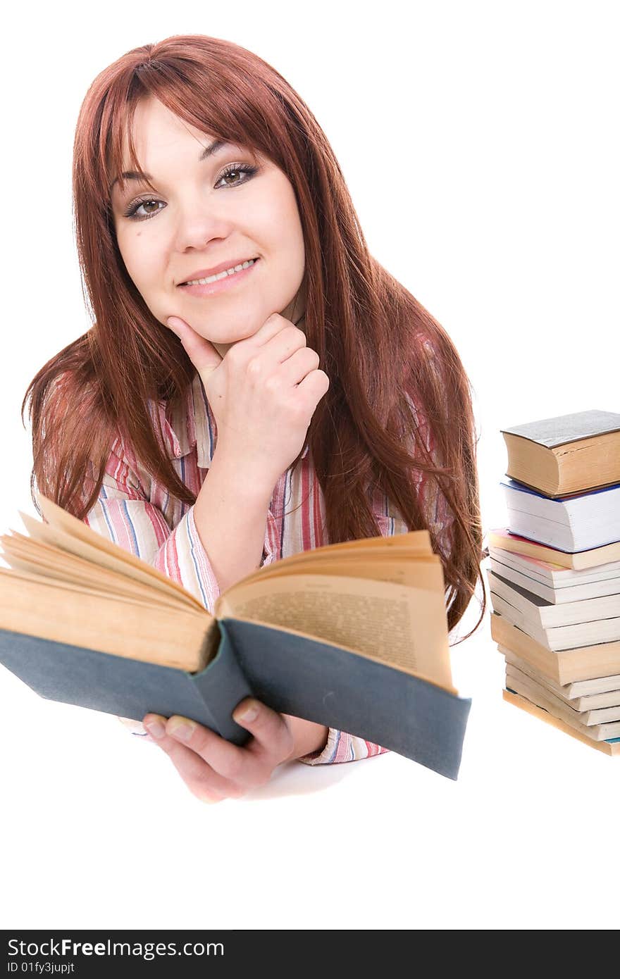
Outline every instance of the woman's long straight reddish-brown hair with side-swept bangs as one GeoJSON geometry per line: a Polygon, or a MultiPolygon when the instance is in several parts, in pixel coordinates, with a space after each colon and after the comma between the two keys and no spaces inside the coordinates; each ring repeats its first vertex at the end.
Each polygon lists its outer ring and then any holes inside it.
{"type": "Polygon", "coordinates": [[[306,247],[308,345],[330,381],[306,441],[324,494],[327,538],[378,535],[369,489],[380,488],[409,530],[429,530],[444,567],[450,629],[482,584],[471,635],[486,598],[477,439],[460,358],[442,326],[369,255],[340,166],[308,106],[276,70],[229,41],[177,35],[134,48],[97,75],[83,100],[73,216],[93,325],[48,360],[24,396],[34,505],[36,484],[83,519],[118,434],[170,493],[189,504],[196,498],[172,469],[158,413],[149,410],[153,401],[177,404],[195,368],[129,278],[110,200],[123,134],[133,168],[141,169],[131,123],[138,101],[149,96],[201,131],[258,151],[291,181],[306,247]],[[418,492],[420,474],[430,492],[418,492]],[[453,516],[445,551],[430,517],[436,493],[453,516]]]}

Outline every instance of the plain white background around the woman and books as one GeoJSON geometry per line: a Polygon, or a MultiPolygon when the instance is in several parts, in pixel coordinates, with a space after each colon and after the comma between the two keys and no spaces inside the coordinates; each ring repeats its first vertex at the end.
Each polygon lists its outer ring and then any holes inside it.
{"type": "MultiPolygon", "coordinates": [[[[35,512],[26,385],[90,325],[72,241],[79,106],[123,52],[178,33],[255,51],[309,104],[371,253],[460,352],[484,528],[502,526],[501,428],[619,410],[615,14],[592,0],[109,0],[79,23],[63,4],[8,15],[0,531],[35,512]]],[[[487,619],[453,651],[473,698],[457,782],[394,754],[293,763],[216,806],[113,717],[0,668],[3,926],[617,925],[620,759],[503,703],[501,668],[487,619]]]]}

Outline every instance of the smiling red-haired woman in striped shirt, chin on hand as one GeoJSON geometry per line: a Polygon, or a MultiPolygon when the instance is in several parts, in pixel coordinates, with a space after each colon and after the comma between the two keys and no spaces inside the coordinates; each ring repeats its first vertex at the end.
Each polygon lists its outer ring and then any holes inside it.
{"type": "MultiPolygon", "coordinates": [[[[24,396],[32,489],[210,610],[289,554],[427,528],[453,629],[482,583],[468,381],[284,78],[202,35],[129,51],[84,98],[73,201],[93,325],[24,396]]],[[[144,724],[207,801],[384,751],[256,701],[243,748],[184,720],[144,724]]]]}

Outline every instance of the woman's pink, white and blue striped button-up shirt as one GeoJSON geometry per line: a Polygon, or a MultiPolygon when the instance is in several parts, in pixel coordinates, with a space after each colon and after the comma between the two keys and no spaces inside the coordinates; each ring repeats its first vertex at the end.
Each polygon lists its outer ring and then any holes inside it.
{"type": "MultiPolygon", "coordinates": [[[[155,411],[159,414],[167,455],[176,473],[197,494],[211,466],[216,444],[215,418],[200,376],[195,375],[185,404],[169,421],[164,401],[157,405],[150,402],[149,410],[152,416],[155,411]]],[[[426,440],[430,445],[430,433],[426,440]]],[[[420,476],[418,491],[422,491],[423,482],[420,476]]],[[[372,507],[383,536],[407,531],[385,495],[376,493],[372,507]]],[[[307,446],[297,470],[293,473],[288,469],[273,489],[261,566],[329,543],[323,533],[324,521],[323,493],[307,446]]],[[[450,522],[444,497],[436,495],[436,528],[443,534],[450,522]]],[[[196,529],[194,507],[171,496],[138,464],[131,446],[120,438],[112,446],[99,498],[84,523],[182,584],[213,612],[219,588],[196,529]]],[[[146,733],[141,723],[129,722],[129,726],[133,733],[146,733]]],[[[330,728],[325,747],[298,761],[307,765],[352,762],[386,750],[330,728]]]]}

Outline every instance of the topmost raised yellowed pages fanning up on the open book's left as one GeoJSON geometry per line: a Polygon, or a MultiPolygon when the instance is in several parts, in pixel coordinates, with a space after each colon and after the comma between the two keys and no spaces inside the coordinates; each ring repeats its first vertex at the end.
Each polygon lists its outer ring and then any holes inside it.
{"type": "MultiPolygon", "coordinates": [[[[60,509],[60,507],[56,509],[60,509]]],[[[67,533],[67,531],[59,527],[54,527],[51,524],[43,524],[28,516],[28,514],[22,513],[22,511],[19,512],[24,521],[26,531],[33,539],[42,540],[43,543],[49,544],[60,551],[59,561],[62,561],[63,551],[69,551],[71,554],[76,554],[77,557],[84,558],[84,560],[90,561],[94,565],[109,568],[111,571],[116,571],[119,575],[126,575],[127,578],[131,578],[136,582],[142,582],[150,585],[152,588],[166,591],[167,594],[176,595],[180,601],[184,601],[188,606],[204,608],[198,599],[194,598],[180,584],[173,582],[166,575],[151,567],[150,564],[147,564],[146,561],[142,561],[141,558],[136,557],[135,554],[130,554],[129,551],[119,547],[118,544],[113,543],[111,540],[106,540],[105,537],[91,531],[85,524],[83,525],[84,530],[89,531],[98,541],[102,540],[107,545],[106,547],[101,548],[99,543],[96,546],[92,543],[87,543],[80,536],[73,536],[72,533],[67,533]]],[[[65,513],[65,511],[61,510],[61,513],[65,513]]],[[[75,520],[71,514],[68,513],[65,515],[70,520],[74,520],[79,526],[82,526],[80,521],[75,520]]]]}

